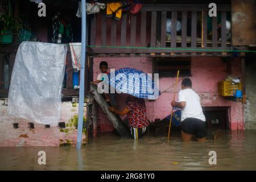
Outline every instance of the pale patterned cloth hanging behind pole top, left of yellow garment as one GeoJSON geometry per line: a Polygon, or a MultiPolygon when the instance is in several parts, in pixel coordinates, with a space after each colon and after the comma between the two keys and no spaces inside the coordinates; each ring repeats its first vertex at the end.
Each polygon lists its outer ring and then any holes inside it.
{"type": "MultiPolygon", "coordinates": [[[[77,9],[77,12],[76,12],[76,16],[78,18],[81,18],[82,16],[82,8],[81,8],[82,4],[81,2],[79,2],[79,7],[77,9]]],[[[96,3],[86,3],[86,13],[87,14],[94,14],[94,13],[99,13],[100,10],[104,10],[105,9],[105,4],[104,3],[99,3],[99,2],[96,2],[96,3]]]]}

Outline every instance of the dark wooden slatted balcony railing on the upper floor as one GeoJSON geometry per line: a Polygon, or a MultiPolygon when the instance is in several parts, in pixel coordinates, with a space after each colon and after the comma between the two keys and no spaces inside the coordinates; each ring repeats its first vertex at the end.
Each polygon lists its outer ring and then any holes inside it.
{"type": "Polygon", "coordinates": [[[226,27],[230,6],[217,6],[217,17],[210,18],[208,11],[208,5],[144,5],[136,15],[122,14],[119,22],[97,14],[91,19],[90,48],[96,56],[225,52],[231,46],[226,27]],[[171,33],[166,32],[168,19],[171,33]],[[178,22],[180,31],[176,31],[178,22]]]}

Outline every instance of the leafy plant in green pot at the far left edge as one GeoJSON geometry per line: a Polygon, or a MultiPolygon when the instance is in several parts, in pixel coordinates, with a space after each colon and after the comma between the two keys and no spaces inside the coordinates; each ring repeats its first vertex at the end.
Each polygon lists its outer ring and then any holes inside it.
{"type": "Polygon", "coordinates": [[[10,11],[6,11],[0,16],[0,43],[13,43],[13,34],[17,34],[21,28],[20,19],[15,20],[13,14],[10,11]]]}

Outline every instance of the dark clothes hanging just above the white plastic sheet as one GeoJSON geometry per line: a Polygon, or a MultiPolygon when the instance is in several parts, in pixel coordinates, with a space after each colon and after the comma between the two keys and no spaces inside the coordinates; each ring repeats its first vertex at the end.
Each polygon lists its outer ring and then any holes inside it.
{"type": "Polygon", "coordinates": [[[73,30],[68,15],[62,16],[57,13],[52,18],[52,43],[70,43],[73,42],[73,30]]]}

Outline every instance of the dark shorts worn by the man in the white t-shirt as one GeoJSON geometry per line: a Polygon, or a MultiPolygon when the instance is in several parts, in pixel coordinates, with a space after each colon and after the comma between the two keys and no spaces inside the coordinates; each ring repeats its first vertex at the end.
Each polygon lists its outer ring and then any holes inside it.
{"type": "Polygon", "coordinates": [[[206,122],[197,118],[186,118],[181,122],[181,130],[184,133],[194,134],[196,138],[204,138],[207,135],[206,122]]]}

